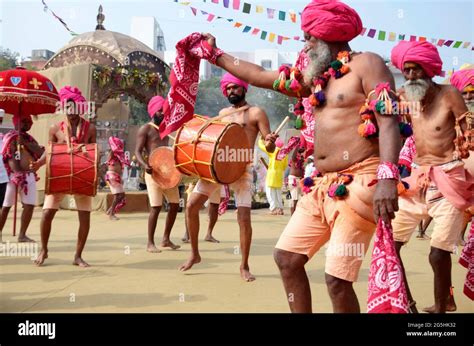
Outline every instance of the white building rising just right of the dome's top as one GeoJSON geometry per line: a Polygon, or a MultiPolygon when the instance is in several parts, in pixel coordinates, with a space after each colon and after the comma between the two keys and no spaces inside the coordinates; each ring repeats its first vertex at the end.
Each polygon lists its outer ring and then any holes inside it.
{"type": "Polygon", "coordinates": [[[157,52],[166,50],[165,37],[155,17],[132,17],[130,36],[157,52]]]}

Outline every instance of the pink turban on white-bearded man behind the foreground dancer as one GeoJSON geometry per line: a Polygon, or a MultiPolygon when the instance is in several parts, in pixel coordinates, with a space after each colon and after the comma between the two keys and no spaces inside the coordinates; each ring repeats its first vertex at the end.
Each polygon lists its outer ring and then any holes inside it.
{"type": "Polygon", "coordinates": [[[438,50],[426,41],[400,41],[392,49],[391,60],[400,71],[403,71],[403,65],[406,62],[417,63],[430,78],[439,76],[443,67],[438,50]]]}

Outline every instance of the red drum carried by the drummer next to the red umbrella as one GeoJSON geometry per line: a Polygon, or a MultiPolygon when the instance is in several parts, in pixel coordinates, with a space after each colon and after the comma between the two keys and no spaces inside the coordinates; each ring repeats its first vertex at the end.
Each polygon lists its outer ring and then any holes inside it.
{"type": "Polygon", "coordinates": [[[97,192],[97,144],[50,143],[46,158],[46,194],[95,196],[97,192]]]}

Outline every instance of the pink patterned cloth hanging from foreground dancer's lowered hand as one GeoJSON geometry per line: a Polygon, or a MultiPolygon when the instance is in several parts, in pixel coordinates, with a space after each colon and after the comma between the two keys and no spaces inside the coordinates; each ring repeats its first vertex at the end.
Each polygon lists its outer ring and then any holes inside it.
{"type": "Polygon", "coordinates": [[[370,263],[368,313],[408,313],[408,297],[391,224],[379,219],[370,263]]]}

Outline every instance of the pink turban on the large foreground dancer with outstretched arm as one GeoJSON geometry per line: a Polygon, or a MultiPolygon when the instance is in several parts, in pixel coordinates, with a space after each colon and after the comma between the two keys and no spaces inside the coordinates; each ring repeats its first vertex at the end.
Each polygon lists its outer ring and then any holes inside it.
{"type": "Polygon", "coordinates": [[[349,42],[362,31],[357,12],[335,0],[313,0],[301,15],[301,29],[327,42],[349,42]]]}

